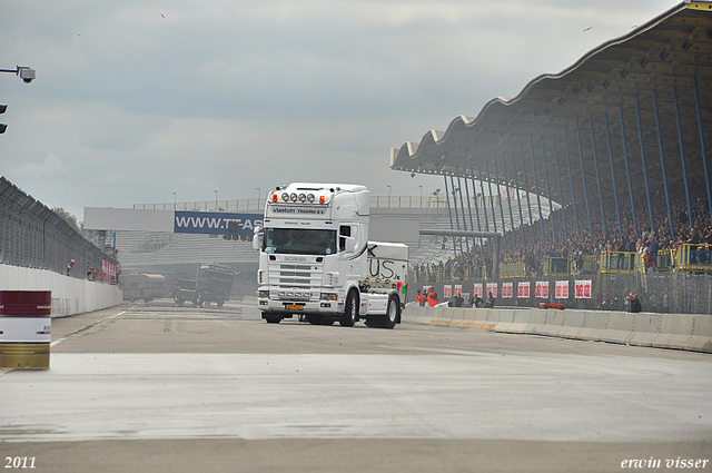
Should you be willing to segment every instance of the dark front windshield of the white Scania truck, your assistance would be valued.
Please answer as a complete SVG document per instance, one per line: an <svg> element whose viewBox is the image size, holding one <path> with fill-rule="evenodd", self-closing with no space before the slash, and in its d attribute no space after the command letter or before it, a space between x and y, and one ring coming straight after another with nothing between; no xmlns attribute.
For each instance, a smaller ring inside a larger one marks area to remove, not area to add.
<svg viewBox="0 0 712 473"><path fill-rule="evenodd" d="M265 228L263 252L290 255L333 255L336 253L336 230Z"/></svg>

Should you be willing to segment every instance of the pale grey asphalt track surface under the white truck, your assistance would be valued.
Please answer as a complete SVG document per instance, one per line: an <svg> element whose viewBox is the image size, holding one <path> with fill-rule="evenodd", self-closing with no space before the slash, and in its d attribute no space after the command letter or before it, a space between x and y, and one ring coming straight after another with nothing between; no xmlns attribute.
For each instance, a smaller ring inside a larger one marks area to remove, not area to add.
<svg viewBox="0 0 712 473"><path fill-rule="evenodd" d="M49 371L1 373L0 454L37 472L712 471L712 356L125 304L52 321Z"/></svg>

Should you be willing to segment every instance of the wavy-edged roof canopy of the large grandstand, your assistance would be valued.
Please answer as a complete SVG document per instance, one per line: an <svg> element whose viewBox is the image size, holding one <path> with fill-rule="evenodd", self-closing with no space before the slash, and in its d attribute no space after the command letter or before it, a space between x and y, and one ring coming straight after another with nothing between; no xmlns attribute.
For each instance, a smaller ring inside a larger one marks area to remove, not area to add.
<svg viewBox="0 0 712 473"><path fill-rule="evenodd" d="M476 117L461 115L445 131L392 149L390 167L492 180L567 205L572 188L583 197L582 181L612 191L612 173L624 189L630 176L633 191L645 186L644 170L652 188L663 176L682 187L681 149L686 175L702 177L711 134L712 3L683 2L562 72L534 78L516 97L494 98Z"/></svg>

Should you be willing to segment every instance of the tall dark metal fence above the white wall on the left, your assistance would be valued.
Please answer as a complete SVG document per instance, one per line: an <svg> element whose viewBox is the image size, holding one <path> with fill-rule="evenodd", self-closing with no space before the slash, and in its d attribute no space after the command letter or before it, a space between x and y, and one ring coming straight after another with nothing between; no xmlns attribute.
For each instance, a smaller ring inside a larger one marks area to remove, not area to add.
<svg viewBox="0 0 712 473"><path fill-rule="evenodd" d="M103 242L102 242L103 243ZM39 200L0 177L0 264L48 269L85 278L103 262L118 265Z"/></svg>

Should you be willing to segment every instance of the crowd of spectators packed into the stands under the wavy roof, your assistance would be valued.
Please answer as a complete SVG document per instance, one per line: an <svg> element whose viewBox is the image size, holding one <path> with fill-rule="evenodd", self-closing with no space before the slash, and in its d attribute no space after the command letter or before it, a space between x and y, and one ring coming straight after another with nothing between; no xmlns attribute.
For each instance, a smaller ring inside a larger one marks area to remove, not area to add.
<svg viewBox="0 0 712 473"><path fill-rule="evenodd" d="M706 201L706 187L701 177L690 179L690 211L683 186L672 186L670 190L670 211L663 189L647 196L643 191L634 197L635 220L627 194L619 193L619 205L613 195L603 198L603 213L597 195L589 193L589 211L585 203L577 201L574 217L574 206L551 213L550 218L535 220L532 225L524 225L507 230L501 245L500 262L523 263L527 274L535 275L542 269L545 257L563 257L577 260L583 256L600 255L602 252L639 252L646 266L654 267L659 253L678 248L683 244L712 245L712 221ZM526 205L524 200L523 205ZM532 208L536 215L537 211ZM620 214L621 226L619 227ZM605 220L603 219L605 215ZM651 228L651 216L653 227ZM672 225L670 224L672 216ZM565 219L565 231L564 231ZM577 221L576 221L577 220ZM605 221L605 226L604 226ZM635 221L636 225L633 224ZM692 221L692 225L690 225ZM483 223L484 224L484 223ZM591 227L590 227L591 226ZM672 227L674 235L670 234ZM443 243L452 248L453 243ZM487 240L456 242L456 256L438 264L423 264L416 270L424 282L434 282L438 272L446 269L453 280L462 280L471 268L486 268L492 274L492 244ZM462 247L462 250L461 250ZM709 253L708 253L709 257ZM712 262L701 262L712 263ZM423 276L421 276L423 275Z"/></svg>

